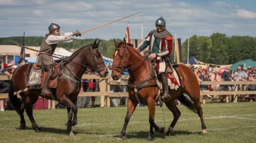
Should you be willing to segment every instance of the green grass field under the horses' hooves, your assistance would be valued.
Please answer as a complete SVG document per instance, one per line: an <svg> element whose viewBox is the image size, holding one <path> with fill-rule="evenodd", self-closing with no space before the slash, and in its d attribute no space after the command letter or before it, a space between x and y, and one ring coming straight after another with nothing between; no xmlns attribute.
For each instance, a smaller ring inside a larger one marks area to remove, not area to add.
<svg viewBox="0 0 256 143"><path fill-rule="evenodd" d="M201 132L198 115L183 105L173 137L155 132L154 142L255 142L256 102L229 104L204 104L203 115L208 133ZM42 133L32 130L27 115L27 129L19 129L16 111L0 112L0 142L147 142L149 133L147 107L137 107L127 127L123 141L117 140L123 126L127 107L79 109L78 124L73 126L74 136L69 136L64 124L66 109L34 110ZM155 122L160 127L170 126L172 113L164 105L156 108Z"/></svg>

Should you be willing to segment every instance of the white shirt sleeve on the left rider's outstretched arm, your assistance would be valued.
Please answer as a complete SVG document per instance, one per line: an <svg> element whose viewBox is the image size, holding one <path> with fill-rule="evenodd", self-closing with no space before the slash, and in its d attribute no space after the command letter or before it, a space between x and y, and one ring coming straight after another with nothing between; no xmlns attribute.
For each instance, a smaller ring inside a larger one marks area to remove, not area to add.
<svg viewBox="0 0 256 143"><path fill-rule="evenodd" d="M62 43L62 42L71 42L73 41L73 32L64 33L63 35L60 35L60 36L49 35L48 38L45 39L45 41L48 45Z"/></svg>

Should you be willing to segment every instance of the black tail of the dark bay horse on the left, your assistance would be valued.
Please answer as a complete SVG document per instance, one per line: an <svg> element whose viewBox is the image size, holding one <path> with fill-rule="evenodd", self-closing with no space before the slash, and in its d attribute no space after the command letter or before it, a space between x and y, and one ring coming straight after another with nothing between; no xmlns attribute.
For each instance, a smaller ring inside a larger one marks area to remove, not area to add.
<svg viewBox="0 0 256 143"><path fill-rule="evenodd" d="M14 110L16 110L16 112L19 114L20 106L21 106L21 101L17 97L17 94L14 95L14 87L13 87L12 79L10 80L10 83L9 83L9 93L8 93L8 96L9 96L10 106Z"/></svg>

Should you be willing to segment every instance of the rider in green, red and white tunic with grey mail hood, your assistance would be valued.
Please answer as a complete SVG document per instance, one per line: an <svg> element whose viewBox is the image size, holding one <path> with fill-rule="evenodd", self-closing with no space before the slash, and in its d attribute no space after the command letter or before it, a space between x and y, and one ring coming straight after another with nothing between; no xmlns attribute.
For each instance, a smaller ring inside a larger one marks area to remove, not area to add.
<svg viewBox="0 0 256 143"><path fill-rule="evenodd" d="M157 72L162 79L162 86L164 87L162 98L165 99L170 97L168 94L169 89L166 74L168 65L171 64L169 56L172 53L173 36L166 30L166 22L162 16L155 21L155 27L157 30L149 32L136 50L141 52L149 45L149 50L151 51L149 57L157 60ZM169 70L172 70L172 68L170 67Z"/></svg>

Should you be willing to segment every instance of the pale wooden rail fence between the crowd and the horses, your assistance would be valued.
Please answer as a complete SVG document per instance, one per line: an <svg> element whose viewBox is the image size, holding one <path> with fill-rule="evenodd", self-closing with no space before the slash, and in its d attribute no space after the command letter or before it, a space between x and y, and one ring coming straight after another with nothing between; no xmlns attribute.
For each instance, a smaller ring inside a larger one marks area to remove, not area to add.
<svg viewBox="0 0 256 143"><path fill-rule="evenodd" d="M12 76L12 75L11 75ZM0 80L10 80L10 77L6 75L0 75ZM128 79L127 76L125 79ZM110 75L105 78L100 78L93 74L84 74L82 79L97 79L99 80L99 92L81 92L79 96L101 96L101 107L110 107L110 97L127 97L128 93L113 93L110 91L110 85L127 85L123 80L121 82L116 82L111 80ZM237 82L199 82L199 85L233 85L233 91L201 91L201 96L203 95L234 95L234 102L237 102L239 95L246 94L256 94L256 91L238 91L238 87L248 84L256 84L256 82L251 81L237 81ZM240 88L241 89L241 88ZM18 95L19 96L19 95ZM0 94L0 98L8 98L7 93ZM55 101L50 101L48 105L49 109L55 109Z"/></svg>

